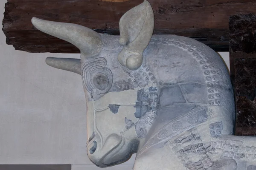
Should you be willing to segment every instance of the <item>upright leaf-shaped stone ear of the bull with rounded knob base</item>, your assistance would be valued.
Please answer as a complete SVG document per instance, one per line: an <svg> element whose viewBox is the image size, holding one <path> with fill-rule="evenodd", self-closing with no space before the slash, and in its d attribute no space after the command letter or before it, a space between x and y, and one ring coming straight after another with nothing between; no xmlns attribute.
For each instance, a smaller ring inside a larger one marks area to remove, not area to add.
<svg viewBox="0 0 256 170"><path fill-rule="evenodd" d="M143 62L143 51L154 31L154 12L148 1L127 11L119 21L120 44L124 47L118 54L121 65L130 70L138 69Z"/></svg>

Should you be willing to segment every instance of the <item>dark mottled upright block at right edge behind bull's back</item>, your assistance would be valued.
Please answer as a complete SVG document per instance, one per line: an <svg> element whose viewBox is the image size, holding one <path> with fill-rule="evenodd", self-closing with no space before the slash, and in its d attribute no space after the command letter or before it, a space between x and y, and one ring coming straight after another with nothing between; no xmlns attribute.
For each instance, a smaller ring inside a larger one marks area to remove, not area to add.
<svg viewBox="0 0 256 170"><path fill-rule="evenodd" d="M230 77L236 99L236 135L256 135L256 16L232 15Z"/></svg>

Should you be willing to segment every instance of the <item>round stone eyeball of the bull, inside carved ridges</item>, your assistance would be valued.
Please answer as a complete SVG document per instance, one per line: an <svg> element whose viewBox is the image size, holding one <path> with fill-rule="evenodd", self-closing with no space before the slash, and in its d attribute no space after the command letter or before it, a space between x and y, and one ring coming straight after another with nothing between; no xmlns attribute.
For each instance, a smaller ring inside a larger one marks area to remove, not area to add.
<svg viewBox="0 0 256 170"><path fill-rule="evenodd" d="M99 90L104 91L108 87L109 79L108 79L108 77L105 74L97 73L93 77L93 84Z"/></svg>

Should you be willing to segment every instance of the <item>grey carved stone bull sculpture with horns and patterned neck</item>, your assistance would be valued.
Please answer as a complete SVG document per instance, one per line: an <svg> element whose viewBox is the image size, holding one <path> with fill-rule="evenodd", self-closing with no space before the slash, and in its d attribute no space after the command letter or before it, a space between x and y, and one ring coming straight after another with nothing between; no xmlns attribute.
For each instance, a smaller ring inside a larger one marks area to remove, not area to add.
<svg viewBox="0 0 256 170"><path fill-rule="evenodd" d="M144 1L120 19L120 36L32 18L73 43L80 59L46 59L81 74L87 100L87 153L99 167L137 153L134 170L256 170L256 138L232 136L233 89L226 66L201 42L153 35Z"/></svg>

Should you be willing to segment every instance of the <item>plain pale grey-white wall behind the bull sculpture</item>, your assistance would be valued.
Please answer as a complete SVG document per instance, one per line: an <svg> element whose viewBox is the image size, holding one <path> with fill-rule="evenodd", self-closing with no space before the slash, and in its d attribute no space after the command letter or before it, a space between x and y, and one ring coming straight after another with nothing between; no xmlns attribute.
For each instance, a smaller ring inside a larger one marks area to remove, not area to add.
<svg viewBox="0 0 256 170"><path fill-rule="evenodd" d="M0 0L0 20L4 3ZM0 31L0 164L73 164L98 170L86 152L86 105L81 77L51 68L46 57L6 45ZM229 66L228 53L221 53ZM128 162L108 170L131 170Z"/></svg>

